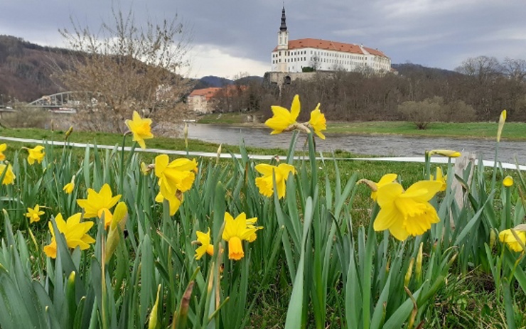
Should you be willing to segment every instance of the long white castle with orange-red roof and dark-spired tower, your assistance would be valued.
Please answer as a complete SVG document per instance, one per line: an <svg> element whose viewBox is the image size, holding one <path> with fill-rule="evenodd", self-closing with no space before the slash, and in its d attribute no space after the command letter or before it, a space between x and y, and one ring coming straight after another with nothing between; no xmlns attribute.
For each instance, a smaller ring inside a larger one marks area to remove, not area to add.
<svg viewBox="0 0 526 329"><path fill-rule="evenodd" d="M373 70L390 72L391 59L380 50L320 39L289 40L285 7L281 11L278 45L272 50L272 72L304 72L304 68L321 71Z"/></svg>

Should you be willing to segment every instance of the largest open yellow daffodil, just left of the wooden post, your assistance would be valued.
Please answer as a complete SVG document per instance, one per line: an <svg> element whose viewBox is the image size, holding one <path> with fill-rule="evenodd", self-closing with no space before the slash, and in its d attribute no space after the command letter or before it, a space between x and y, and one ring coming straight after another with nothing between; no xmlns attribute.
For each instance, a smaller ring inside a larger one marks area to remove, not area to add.
<svg viewBox="0 0 526 329"><path fill-rule="evenodd" d="M375 231L389 230L399 240L409 235L424 234L431 224L439 222L435 208L428 202L439 192L442 184L436 180L422 180L406 191L399 183L389 183L377 191L380 212L375 219Z"/></svg>

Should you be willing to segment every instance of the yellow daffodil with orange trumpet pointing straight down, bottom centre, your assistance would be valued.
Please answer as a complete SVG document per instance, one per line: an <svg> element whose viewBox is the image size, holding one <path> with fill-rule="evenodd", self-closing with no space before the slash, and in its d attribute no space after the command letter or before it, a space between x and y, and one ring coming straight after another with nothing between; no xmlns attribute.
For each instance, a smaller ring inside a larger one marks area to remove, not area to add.
<svg viewBox="0 0 526 329"><path fill-rule="evenodd" d="M238 261L245 257L242 241L248 241L256 230L255 227L247 227L245 212L240 213L235 219L228 212L225 212L225 229L222 232L222 239L228 242L228 259Z"/></svg>

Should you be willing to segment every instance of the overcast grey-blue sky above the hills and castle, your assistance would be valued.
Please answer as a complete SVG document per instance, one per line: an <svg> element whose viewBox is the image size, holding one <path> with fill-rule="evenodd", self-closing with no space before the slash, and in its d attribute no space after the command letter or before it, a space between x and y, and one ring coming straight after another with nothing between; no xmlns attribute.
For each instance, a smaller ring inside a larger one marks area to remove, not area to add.
<svg viewBox="0 0 526 329"><path fill-rule="evenodd" d="M193 36L189 75L262 76L277 44L282 0L121 0L136 21L178 15ZM87 26L111 18L109 0L0 0L0 34L63 46L70 17ZM525 0L286 0L289 39L362 43L392 63L453 70L478 55L526 59Z"/></svg>

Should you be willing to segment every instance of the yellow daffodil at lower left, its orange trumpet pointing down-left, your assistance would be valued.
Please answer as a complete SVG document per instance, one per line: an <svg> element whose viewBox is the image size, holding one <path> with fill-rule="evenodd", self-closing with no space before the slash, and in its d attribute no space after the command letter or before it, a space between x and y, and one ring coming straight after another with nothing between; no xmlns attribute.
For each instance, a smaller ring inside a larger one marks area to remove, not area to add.
<svg viewBox="0 0 526 329"><path fill-rule="evenodd" d="M80 217L80 212L77 212L69 217L67 221L64 221L62 214L58 214L55 217L55 222L57 223L58 232L64 234L68 247L73 249L80 247L80 250L85 250L90 247L90 244L95 242L95 239L87 234L87 231L93 226L93 222L80 222ZM51 232L51 243L44 247L44 252L48 257L56 258L57 241L55 239L55 231L51 222L48 225Z"/></svg>

